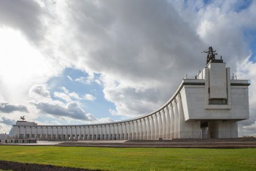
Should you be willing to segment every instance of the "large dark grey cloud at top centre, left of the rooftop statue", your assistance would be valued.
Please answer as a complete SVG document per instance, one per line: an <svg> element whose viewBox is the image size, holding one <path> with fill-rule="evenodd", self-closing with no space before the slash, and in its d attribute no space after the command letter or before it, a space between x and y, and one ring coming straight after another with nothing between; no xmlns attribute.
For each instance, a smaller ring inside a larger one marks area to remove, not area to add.
<svg viewBox="0 0 256 171"><path fill-rule="evenodd" d="M82 48L88 49L87 41L98 45L84 59L94 71L164 81L178 67L184 68L176 73L181 76L204 64L198 56L205 45L167 1L102 1L90 4L93 12L87 5L69 3L72 16L83 14L71 20L77 36L85 32L78 39Z"/></svg>

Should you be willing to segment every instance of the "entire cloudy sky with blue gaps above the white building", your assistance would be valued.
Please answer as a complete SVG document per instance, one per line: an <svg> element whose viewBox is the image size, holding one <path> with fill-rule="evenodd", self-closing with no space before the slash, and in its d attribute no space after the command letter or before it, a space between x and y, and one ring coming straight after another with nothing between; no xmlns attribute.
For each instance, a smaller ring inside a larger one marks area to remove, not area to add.
<svg viewBox="0 0 256 171"><path fill-rule="evenodd" d="M256 1L0 1L0 133L133 118L165 103L212 45L250 79L256 136Z"/></svg>

